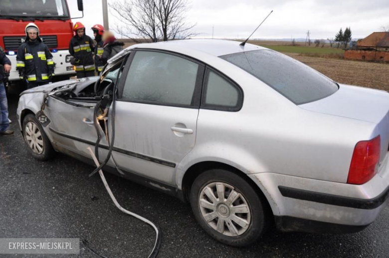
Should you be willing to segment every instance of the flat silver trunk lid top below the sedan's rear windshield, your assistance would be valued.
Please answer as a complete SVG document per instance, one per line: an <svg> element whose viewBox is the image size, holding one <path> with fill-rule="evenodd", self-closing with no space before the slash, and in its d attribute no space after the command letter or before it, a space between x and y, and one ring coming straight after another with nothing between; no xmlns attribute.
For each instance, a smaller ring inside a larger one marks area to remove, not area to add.
<svg viewBox="0 0 389 258"><path fill-rule="evenodd" d="M344 84L339 86L339 90L331 96L299 107L375 124L379 124L388 114L388 92Z"/></svg>

